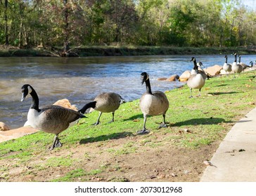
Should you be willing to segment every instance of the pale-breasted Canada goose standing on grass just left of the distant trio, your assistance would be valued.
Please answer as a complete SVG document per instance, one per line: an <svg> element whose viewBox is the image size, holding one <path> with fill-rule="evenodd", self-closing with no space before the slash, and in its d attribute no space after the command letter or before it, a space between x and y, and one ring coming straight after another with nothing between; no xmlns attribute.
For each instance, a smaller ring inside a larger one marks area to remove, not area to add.
<svg viewBox="0 0 256 196"><path fill-rule="evenodd" d="M200 92L201 92L201 88L205 85L205 78L203 77L203 74L199 73L198 71L198 65L196 64L196 58L192 57L190 61L193 61L194 67L193 69L196 71L196 74L192 74L187 81L187 85L190 88L190 92L191 92L191 97L192 96L192 89L199 89L199 94L198 96L200 96Z"/></svg>

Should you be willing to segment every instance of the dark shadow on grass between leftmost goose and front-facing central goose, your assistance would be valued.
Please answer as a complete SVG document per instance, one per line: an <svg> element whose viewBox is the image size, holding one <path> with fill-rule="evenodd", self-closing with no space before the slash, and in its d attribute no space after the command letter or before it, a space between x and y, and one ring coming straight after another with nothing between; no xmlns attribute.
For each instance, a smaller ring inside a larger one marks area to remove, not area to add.
<svg viewBox="0 0 256 196"><path fill-rule="evenodd" d="M86 139L81 139L79 141L79 144L88 144L88 143L93 143L96 141L105 141L108 139L120 139L120 138L125 138L125 137L131 136L131 135L133 135L132 132L122 132L122 133L101 135L98 137L90 137L90 138L86 138Z"/></svg>

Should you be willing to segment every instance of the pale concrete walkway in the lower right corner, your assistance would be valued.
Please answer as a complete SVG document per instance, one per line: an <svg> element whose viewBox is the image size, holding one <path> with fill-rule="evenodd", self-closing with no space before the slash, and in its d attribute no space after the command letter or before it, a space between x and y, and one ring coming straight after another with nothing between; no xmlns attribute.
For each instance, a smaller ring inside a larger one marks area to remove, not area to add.
<svg viewBox="0 0 256 196"><path fill-rule="evenodd" d="M256 182L256 108L219 145L201 182Z"/></svg>

